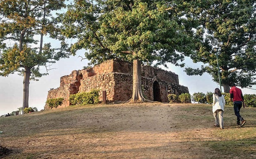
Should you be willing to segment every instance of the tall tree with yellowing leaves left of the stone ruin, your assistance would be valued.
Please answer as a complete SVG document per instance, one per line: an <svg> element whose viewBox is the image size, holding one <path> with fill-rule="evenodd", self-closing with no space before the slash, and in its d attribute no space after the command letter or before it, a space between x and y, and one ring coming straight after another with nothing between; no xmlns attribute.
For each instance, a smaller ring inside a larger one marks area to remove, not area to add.
<svg viewBox="0 0 256 159"><path fill-rule="evenodd" d="M40 66L68 55L63 42L59 49L50 43L43 46L46 35L62 40L59 22L51 17L52 11L62 7L64 0L0 0L0 75L19 72L24 76L23 108L28 107L30 79L45 75L40 73Z"/></svg>

